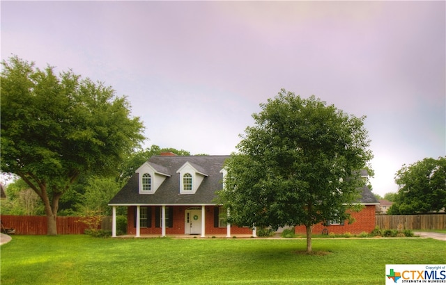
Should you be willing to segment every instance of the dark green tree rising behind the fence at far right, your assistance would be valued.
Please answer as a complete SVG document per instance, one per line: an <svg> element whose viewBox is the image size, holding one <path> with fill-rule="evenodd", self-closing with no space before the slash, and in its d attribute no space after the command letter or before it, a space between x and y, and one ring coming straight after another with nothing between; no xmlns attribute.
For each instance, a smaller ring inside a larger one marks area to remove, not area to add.
<svg viewBox="0 0 446 285"><path fill-rule="evenodd" d="M446 207L446 157L403 165L395 176L399 190L387 213L407 215Z"/></svg>

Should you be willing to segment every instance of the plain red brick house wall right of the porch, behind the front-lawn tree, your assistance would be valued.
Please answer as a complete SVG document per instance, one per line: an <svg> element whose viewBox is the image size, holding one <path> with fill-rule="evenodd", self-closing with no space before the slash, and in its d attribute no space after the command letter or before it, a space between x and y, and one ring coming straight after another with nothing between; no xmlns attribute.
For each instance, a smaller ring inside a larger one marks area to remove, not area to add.
<svg viewBox="0 0 446 285"><path fill-rule="evenodd" d="M370 233L375 228L375 205L367 205L358 213L351 213L355 218L355 222L348 225L348 221L344 222L344 225L330 225L326 227L329 233L334 234L361 234L362 231ZM313 234L321 234L325 226L322 223L313 226ZM295 227L296 234L305 234L305 226Z"/></svg>

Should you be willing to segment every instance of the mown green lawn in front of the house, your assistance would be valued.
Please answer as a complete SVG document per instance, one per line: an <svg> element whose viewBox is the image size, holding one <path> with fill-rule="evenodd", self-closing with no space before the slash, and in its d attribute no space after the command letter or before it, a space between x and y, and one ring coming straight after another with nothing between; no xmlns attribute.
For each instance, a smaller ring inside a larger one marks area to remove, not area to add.
<svg viewBox="0 0 446 285"><path fill-rule="evenodd" d="M6 284L383 284L386 263L446 263L424 238L121 239L13 236L1 245Z"/></svg>

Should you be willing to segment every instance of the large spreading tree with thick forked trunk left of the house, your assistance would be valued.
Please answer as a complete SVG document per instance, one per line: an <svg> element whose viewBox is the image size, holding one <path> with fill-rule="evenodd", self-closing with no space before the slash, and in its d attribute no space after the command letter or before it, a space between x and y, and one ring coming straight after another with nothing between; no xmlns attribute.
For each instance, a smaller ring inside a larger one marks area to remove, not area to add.
<svg viewBox="0 0 446 285"><path fill-rule="evenodd" d="M144 140L144 127L127 99L103 83L40 70L17 56L1 64L1 170L38 194L47 234L55 235L63 193L81 173L116 170Z"/></svg>

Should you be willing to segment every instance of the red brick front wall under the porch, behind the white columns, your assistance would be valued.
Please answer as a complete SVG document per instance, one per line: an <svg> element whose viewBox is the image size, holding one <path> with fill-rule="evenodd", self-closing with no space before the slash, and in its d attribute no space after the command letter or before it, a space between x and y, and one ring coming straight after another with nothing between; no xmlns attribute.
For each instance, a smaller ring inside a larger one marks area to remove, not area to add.
<svg viewBox="0 0 446 285"><path fill-rule="evenodd" d="M185 234L184 221L185 210L187 206L174 206L174 225L173 227L166 228L166 235ZM214 227L214 206L206 206L205 219L206 229L205 235L212 236L213 234L226 234L226 227ZM151 207L152 210L152 227L141 227L140 234L155 234L161 235L161 227L155 227L155 207ZM134 225L134 206L127 208L127 233L136 234L136 228ZM231 234L252 234L252 230L246 227L231 227Z"/></svg>

